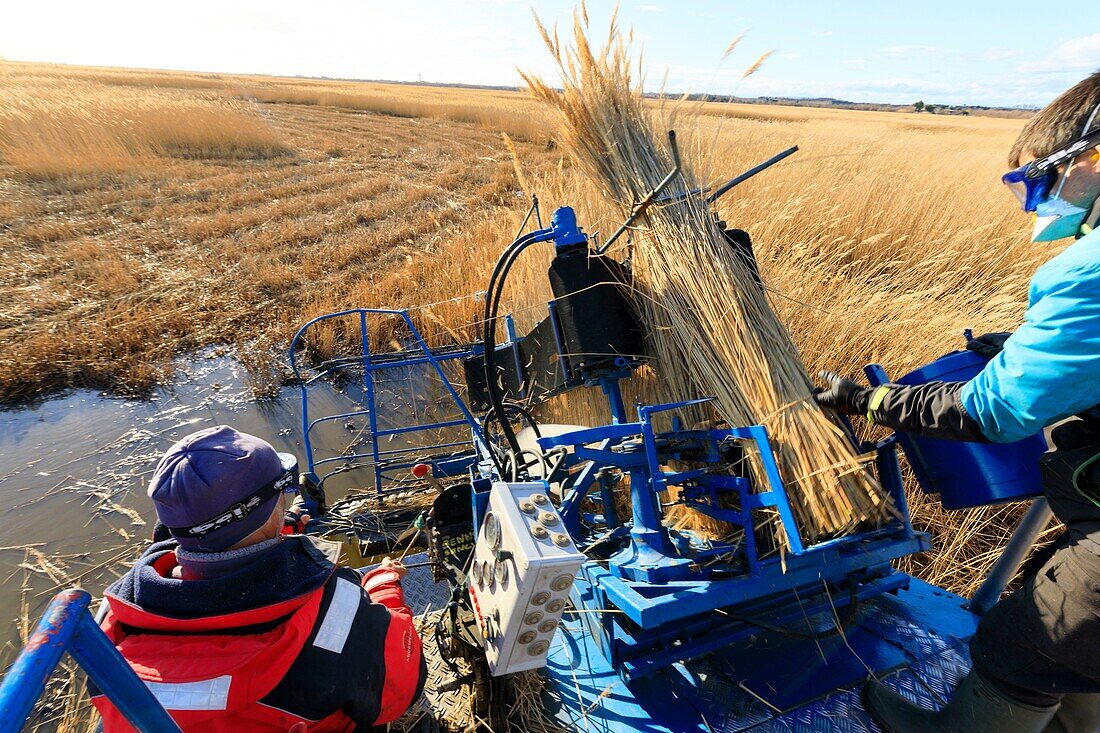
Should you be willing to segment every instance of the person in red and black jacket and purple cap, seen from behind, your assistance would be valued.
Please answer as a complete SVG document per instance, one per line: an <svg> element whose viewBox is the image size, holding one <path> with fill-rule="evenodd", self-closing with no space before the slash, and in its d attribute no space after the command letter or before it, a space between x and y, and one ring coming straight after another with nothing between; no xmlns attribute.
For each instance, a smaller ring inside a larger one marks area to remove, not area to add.
<svg viewBox="0 0 1100 733"><path fill-rule="evenodd" d="M337 565L338 546L286 534L295 466L220 426L172 446L153 474L172 538L107 589L102 625L185 732L367 731L424 689L405 568L386 558L360 575ZM133 730L91 693L105 733Z"/></svg>

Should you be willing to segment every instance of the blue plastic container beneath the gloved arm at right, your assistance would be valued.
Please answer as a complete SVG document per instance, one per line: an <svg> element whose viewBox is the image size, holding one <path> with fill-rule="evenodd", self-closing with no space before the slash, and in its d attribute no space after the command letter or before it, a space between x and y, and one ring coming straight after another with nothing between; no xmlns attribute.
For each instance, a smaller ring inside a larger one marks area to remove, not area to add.
<svg viewBox="0 0 1100 733"><path fill-rule="evenodd" d="M895 384L966 382L987 363L972 351L955 351L895 380ZM872 385L886 381L881 368L867 369ZM971 508L1032 499L1043 494L1038 459L1046 452L1043 433L1005 444L936 440L899 433L898 442L909 458L925 493L938 493L944 508Z"/></svg>

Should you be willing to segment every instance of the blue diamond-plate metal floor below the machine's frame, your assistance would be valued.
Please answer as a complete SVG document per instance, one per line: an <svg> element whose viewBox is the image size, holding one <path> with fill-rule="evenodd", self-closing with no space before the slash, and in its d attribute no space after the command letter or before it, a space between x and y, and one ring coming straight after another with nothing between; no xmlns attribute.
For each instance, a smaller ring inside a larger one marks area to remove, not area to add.
<svg viewBox="0 0 1100 733"><path fill-rule="evenodd" d="M763 633L747 648L630 686L607 668L583 624L566 624L546 670L559 688L548 710L565 730L593 733L879 733L859 697L871 674L937 709L969 670L977 617L961 604L914 580L865 604L844 636L795 643Z"/></svg>

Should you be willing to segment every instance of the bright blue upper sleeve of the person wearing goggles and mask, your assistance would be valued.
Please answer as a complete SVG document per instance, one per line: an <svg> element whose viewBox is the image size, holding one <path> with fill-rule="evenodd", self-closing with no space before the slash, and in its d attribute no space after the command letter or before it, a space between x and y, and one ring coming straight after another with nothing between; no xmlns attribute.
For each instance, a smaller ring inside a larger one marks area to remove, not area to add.
<svg viewBox="0 0 1100 733"><path fill-rule="evenodd" d="M1100 403L1100 277L1074 270L1036 294L1004 350L963 387L963 407L994 442Z"/></svg>

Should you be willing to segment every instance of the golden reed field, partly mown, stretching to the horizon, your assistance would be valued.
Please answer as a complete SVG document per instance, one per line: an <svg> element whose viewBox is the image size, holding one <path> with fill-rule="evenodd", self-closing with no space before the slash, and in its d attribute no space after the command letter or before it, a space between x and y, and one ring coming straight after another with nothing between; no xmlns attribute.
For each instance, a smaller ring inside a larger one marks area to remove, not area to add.
<svg viewBox="0 0 1100 733"><path fill-rule="evenodd" d="M273 354L311 316L483 289L530 192L547 216L576 207L588 231L618 223L524 92L12 63L0 86L6 405L66 386L141 393L211 343L237 347L270 392ZM999 182L1020 120L653 105L712 179L802 149L721 208L752 233L812 371L901 374L964 328L1011 330L1054 254ZM510 281L520 315L549 296L543 266L532 256ZM446 340L474 306L418 317ZM917 571L963 593L1020 511L912 502L937 547Z"/></svg>

